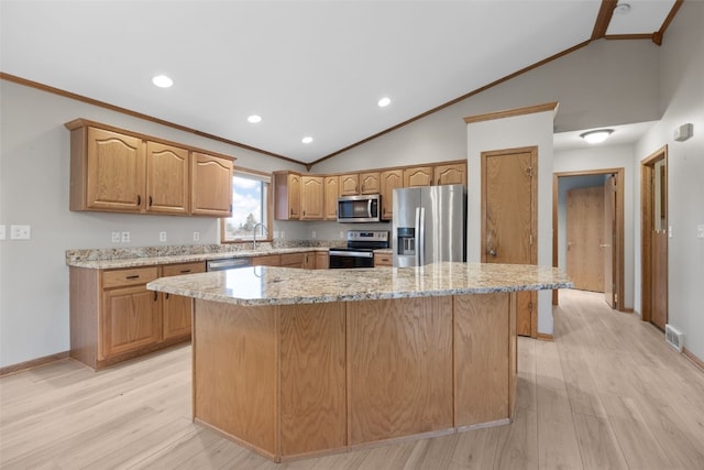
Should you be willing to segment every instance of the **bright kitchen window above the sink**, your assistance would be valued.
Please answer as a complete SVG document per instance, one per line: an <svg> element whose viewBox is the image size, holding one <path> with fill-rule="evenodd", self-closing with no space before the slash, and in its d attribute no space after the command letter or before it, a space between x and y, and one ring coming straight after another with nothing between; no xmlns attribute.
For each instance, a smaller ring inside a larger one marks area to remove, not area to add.
<svg viewBox="0 0 704 470"><path fill-rule="evenodd" d="M234 170L232 177L232 217L221 220L222 242L252 241L257 223L270 227L270 186L268 175ZM271 240L267 230L257 227L257 240Z"/></svg>

